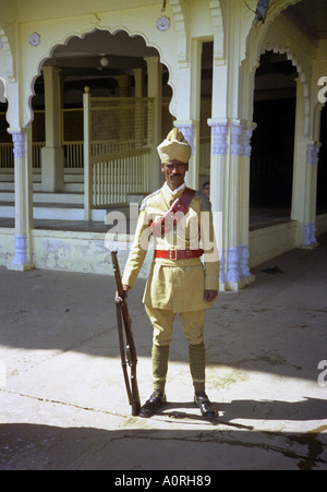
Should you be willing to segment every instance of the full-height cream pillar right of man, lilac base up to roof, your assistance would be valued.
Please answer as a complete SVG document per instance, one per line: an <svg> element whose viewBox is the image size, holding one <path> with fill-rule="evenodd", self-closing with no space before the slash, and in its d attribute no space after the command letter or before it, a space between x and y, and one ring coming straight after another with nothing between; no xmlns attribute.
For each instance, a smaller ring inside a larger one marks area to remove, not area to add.
<svg viewBox="0 0 327 492"><path fill-rule="evenodd" d="M239 1L226 2L225 14L226 52L214 57L213 107L208 120L210 201L214 217L220 214L220 224L215 228L220 253L219 288L239 290L254 280L249 267L249 221L251 137L255 123L249 120L249 92L244 92L245 75L241 69L245 38ZM214 52L216 46L222 46L220 32L215 33Z"/></svg>

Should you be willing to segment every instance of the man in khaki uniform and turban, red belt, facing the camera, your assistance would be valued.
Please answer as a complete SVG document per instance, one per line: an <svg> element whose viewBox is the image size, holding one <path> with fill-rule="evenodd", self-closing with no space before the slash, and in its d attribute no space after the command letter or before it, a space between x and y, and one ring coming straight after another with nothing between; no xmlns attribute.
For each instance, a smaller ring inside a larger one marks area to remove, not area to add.
<svg viewBox="0 0 327 492"><path fill-rule="evenodd" d="M205 345L203 337L207 308L218 292L219 262L208 199L186 188L191 146L174 128L158 146L166 183L142 203L134 242L122 277L125 296L144 262L149 236L155 254L143 302L154 327L154 393L141 408L152 417L166 401L166 375L172 325L180 313L189 343L194 401L206 419L217 416L205 392ZM201 256L204 254L204 263Z"/></svg>

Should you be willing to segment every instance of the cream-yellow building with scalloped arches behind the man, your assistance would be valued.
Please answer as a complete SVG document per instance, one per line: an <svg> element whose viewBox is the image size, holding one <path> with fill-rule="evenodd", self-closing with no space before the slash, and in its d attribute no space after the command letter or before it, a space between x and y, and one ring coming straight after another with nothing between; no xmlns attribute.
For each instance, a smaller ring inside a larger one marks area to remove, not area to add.
<svg viewBox="0 0 327 492"><path fill-rule="evenodd" d="M172 122L189 185L210 181L222 290L326 232L326 1L0 7L0 265L110 273Z"/></svg>

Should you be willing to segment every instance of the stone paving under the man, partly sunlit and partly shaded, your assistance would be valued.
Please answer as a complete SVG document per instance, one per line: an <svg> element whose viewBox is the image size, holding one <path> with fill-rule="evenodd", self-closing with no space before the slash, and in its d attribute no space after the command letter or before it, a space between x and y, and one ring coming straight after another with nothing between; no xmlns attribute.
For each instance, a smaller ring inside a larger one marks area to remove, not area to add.
<svg viewBox="0 0 327 492"><path fill-rule="evenodd" d="M219 411L208 422L192 403L179 320L169 401L152 419L132 417L113 277L0 268L0 469L326 470L327 237L253 273L207 313L207 393ZM142 401L152 392L144 284L129 298Z"/></svg>

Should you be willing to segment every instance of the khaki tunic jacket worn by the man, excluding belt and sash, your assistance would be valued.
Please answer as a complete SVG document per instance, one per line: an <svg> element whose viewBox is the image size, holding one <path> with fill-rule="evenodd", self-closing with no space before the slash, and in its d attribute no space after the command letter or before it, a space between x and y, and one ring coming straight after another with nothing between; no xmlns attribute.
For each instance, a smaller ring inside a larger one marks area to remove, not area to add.
<svg viewBox="0 0 327 492"><path fill-rule="evenodd" d="M195 192L189 212L173 230L162 238L152 237L149 223L162 217L175 195L165 184L160 190L144 199L135 230L133 245L124 268L122 283L133 287L147 253L149 239L154 249L204 249L203 261L154 259L146 283L143 302L152 308L173 312L207 309L211 303L204 301L204 291L218 290L219 261L214 240L210 202L203 193Z"/></svg>

